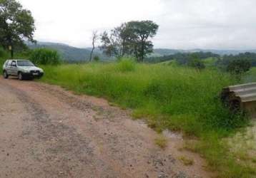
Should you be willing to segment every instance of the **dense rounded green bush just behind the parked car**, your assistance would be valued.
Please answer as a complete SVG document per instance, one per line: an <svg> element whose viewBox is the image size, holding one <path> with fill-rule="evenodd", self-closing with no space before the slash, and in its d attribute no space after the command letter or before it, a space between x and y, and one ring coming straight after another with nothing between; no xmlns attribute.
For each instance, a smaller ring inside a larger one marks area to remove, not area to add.
<svg viewBox="0 0 256 178"><path fill-rule="evenodd" d="M39 48L31 52L30 58L33 63L43 65L58 65L61 63L59 53L48 48Z"/></svg>

